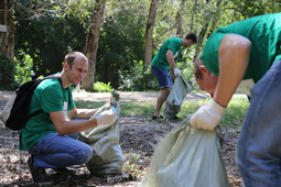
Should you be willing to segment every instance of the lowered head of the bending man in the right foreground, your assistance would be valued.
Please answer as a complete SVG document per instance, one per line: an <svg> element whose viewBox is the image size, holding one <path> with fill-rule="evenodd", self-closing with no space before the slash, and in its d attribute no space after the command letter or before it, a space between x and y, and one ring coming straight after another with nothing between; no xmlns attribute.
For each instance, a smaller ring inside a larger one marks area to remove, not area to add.
<svg viewBox="0 0 281 187"><path fill-rule="evenodd" d="M195 79L203 91L207 91L212 97L214 97L218 77L207 70L203 61L199 59L199 56L201 55L197 56L194 63Z"/></svg>

